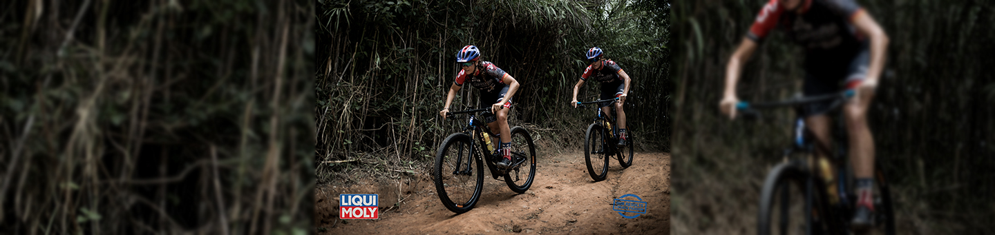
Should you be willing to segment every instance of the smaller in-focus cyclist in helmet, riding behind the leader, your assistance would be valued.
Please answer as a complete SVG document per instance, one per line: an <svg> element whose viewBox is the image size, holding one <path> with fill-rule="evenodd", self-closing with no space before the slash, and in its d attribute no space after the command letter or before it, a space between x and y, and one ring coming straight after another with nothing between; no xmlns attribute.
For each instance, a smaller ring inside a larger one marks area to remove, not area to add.
<svg viewBox="0 0 995 235"><path fill-rule="evenodd" d="M580 75L580 80L577 84L573 86L573 100L570 104L574 108L577 107L577 90L580 89L581 85L584 85L584 81L588 78L592 78L595 81L601 81L601 98L600 99L611 99L619 98L619 102L615 103L615 112L618 115L618 126L619 126L619 147L625 146L626 130L625 130L625 110L622 109L622 104L625 104L625 97L629 94L629 83L632 81L629 78L629 74L622 70L622 67L618 63L612 61L612 59L604 59L604 52L601 49L595 47L587 50L587 61L590 62L587 68L584 69L584 74ZM601 111L605 114L611 113L611 109L608 105L609 102L602 103Z"/></svg>

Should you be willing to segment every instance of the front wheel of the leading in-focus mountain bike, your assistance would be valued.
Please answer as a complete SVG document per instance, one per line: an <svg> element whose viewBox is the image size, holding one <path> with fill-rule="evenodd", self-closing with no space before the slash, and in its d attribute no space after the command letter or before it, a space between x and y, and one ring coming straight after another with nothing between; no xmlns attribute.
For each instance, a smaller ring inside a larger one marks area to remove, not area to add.
<svg viewBox="0 0 995 235"><path fill-rule="evenodd" d="M439 199L449 210L456 213L470 211L481 198L484 188L484 165L475 160L471 148L472 138L464 133L455 133L443 141L436 155L432 179L436 184ZM471 168L467 169L467 161ZM477 169L474 169L476 165Z"/></svg>

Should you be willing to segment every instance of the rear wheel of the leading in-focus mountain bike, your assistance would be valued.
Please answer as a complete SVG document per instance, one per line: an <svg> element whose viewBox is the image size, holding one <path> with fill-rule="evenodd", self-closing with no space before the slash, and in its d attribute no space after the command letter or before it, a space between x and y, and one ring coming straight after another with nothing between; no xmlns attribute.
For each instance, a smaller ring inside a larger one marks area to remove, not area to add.
<svg viewBox="0 0 995 235"><path fill-rule="evenodd" d="M521 164L515 164L517 167L504 174L504 182L512 191L524 193L535 178L535 144L523 127L511 128L511 161Z"/></svg>

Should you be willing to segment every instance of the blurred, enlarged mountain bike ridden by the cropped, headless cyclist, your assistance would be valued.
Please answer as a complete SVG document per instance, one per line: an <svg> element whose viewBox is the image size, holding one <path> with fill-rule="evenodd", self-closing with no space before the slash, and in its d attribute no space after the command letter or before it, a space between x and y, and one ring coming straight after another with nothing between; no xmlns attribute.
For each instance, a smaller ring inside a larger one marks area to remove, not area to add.
<svg viewBox="0 0 995 235"><path fill-rule="evenodd" d="M850 218L857 203L853 168L847 163L847 135L840 107L854 95L854 90L839 93L797 97L784 101L736 104L744 118L758 119L756 109L801 107L814 102L830 101L835 115L833 139L836 153L828 158L815 156L815 138L805 128L805 119L794 119L794 138L784 150L785 162L767 174L760 191L758 234L851 234ZM834 171L835 170L835 171ZM881 164L875 164L873 230L895 234L895 212L891 188ZM792 187L794 185L794 187Z"/></svg>

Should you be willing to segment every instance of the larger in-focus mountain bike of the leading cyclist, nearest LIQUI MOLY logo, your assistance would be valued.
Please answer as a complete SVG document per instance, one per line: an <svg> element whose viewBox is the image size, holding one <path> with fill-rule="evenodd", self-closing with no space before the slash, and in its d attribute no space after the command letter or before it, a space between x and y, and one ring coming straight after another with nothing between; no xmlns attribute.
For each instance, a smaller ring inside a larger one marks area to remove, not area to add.
<svg viewBox="0 0 995 235"><path fill-rule="evenodd" d="M495 118L490 110L490 108L471 109L446 115L448 119L451 116L469 114L467 126L462 131L446 137L439 146L435 168L432 171L439 199L453 212L470 211L480 200L484 187L485 163L491 170L491 176L495 179L502 176L507 187L517 193L528 190L532 185L532 179L535 178L535 144L523 127L512 127L509 132L511 165L507 168L497 167L497 162L502 157L497 154L495 147L500 140L484 122ZM481 115L475 115L477 113ZM482 117L485 119L482 120ZM475 139L476 143L473 141Z"/></svg>

